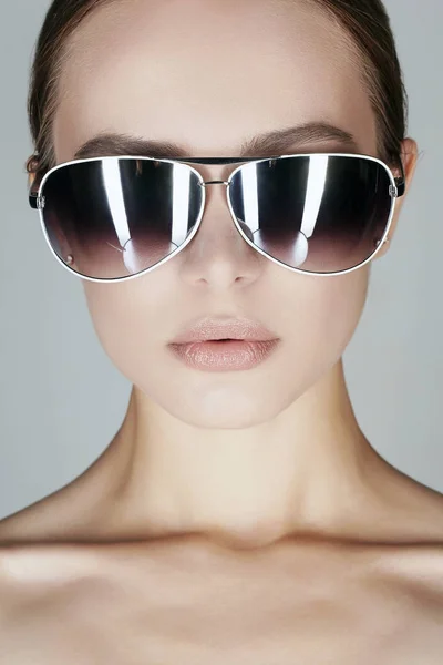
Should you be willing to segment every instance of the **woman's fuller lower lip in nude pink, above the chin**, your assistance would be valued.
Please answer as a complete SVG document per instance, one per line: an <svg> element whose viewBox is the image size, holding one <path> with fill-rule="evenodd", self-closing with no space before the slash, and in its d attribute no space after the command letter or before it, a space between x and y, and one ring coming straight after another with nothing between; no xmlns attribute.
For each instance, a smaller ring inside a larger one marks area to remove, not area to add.
<svg viewBox="0 0 443 665"><path fill-rule="evenodd" d="M171 349L188 367L204 371L251 369L270 356L279 339L270 341L199 341L172 344Z"/></svg>

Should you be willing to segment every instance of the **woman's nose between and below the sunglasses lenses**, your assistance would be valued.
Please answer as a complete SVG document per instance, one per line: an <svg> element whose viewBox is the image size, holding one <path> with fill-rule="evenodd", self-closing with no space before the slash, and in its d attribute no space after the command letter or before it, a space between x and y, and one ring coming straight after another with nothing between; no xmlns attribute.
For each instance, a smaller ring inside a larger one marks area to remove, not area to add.
<svg viewBox="0 0 443 665"><path fill-rule="evenodd" d="M266 259L248 245L235 225L228 205L229 181L210 180L200 185L205 187L205 208L197 233L182 253L182 278L219 290L251 284Z"/></svg>

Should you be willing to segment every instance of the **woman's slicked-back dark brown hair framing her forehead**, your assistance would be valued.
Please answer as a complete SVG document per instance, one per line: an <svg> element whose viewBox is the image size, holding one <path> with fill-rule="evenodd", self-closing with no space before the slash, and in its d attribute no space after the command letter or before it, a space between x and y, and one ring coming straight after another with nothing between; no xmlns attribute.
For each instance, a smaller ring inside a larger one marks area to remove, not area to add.
<svg viewBox="0 0 443 665"><path fill-rule="evenodd" d="M43 174L55 164L52 124L58 82L66 41L97 7L115 0L54 0L40 32L31 73L29 121L35 155L28 171ZM288 1L288 0L287 0ZM405 137L408 95L403 83L390 19L381 0L309 0L344 28L360 55L362 76L375 114L378 154L401 166L401 141Z"/></svg>

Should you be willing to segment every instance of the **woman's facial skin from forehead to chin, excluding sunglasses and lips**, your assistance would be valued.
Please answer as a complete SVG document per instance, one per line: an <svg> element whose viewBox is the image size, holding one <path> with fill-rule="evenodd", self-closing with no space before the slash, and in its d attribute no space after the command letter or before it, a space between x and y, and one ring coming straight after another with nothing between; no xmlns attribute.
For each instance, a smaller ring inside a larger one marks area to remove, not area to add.
<svg viewBox="0 0 443 665"><path fill-rule="evenodd" d="M358 152L377 156L374 115L344 39L316 6L296 0L105 3L71 43L56 160L104 132L178 143L195 157L236 156L254 135L311 121L353 134ZM277 152L327 151L350 152L337 140ZM196 167L205 180L226 168ZM132 383L189 424L239 428L280 413L340 359L368 277L368 266L316 277L268 260L236 231L225 187L213 185L181 254L136 279L83 285L99 338ZM248 371L189 369L167 345L203 316L258 319L280 345Z"/></svg>

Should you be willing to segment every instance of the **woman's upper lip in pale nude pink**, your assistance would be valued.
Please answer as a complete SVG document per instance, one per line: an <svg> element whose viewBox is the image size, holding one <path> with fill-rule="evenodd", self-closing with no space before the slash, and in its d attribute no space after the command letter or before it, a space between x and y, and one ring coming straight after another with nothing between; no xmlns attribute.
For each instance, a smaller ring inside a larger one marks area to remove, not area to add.
<svg viewBox="0 0 443 665"><path fill-rule="evenodd" d="M246 318L199 319L194 326L178 335L171 344L188 344L213 339L248 339L250 341L270 341L278 339L258 321Z"/></svg>

